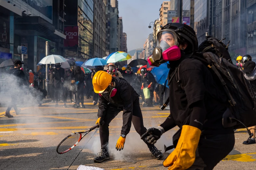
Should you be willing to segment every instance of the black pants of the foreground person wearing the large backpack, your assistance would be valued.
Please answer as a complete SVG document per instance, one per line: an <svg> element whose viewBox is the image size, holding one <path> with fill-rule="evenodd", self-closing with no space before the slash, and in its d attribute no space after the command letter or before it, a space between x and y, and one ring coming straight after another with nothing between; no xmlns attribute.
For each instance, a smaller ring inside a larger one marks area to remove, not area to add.
<svg viewBox="0 0 256 170"><path fill-rule="evenodd" d="M187 170L212 170L232 151L234 145L234 133L202 135L196 150L196 160Z"/></svg>

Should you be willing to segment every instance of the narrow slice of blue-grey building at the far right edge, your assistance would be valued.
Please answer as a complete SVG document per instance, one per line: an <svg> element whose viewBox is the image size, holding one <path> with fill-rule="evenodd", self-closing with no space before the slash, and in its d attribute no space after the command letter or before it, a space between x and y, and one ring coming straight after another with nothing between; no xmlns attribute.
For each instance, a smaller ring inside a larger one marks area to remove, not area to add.
<svg viewBox="0 0 256 170"><path fill-rule="evenodd" d="M247 54L256 59L256 0L247 1Z"/></svg>

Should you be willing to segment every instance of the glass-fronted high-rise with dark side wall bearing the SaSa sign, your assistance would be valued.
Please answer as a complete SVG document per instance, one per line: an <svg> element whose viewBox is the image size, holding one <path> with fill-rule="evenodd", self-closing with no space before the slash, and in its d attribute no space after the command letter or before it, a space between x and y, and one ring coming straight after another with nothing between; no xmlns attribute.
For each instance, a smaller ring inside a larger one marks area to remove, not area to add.
<svg viewBox="0 0 256 170"><path fill-rule="evenodd" d="M67 38L64 57L78 61L93 58L94 1L65 0L65 31Z"/></svg>

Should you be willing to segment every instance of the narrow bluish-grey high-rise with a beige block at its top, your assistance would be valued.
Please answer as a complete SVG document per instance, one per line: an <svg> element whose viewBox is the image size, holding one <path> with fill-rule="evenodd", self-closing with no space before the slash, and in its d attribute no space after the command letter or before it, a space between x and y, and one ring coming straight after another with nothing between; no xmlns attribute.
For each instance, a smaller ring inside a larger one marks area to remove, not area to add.
<svg viewBox="0 0 256 170"><path fill-rule="evenodd" d="M113 6L112 6L113 5ZM110 7L110 51L109 53L119 51L120 44L118 44L118 2L117 0L111 0Z"/></svg>

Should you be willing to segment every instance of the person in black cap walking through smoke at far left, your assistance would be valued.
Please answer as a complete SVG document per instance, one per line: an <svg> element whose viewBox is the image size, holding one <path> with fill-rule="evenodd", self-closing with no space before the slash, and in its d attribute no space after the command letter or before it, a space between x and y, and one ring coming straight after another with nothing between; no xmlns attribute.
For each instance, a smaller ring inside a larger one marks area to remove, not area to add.
<svg viewBox="0 0 256 170"><path fill-rule="evenodd" d="M29 85L28 80L25 78L25 74L20 68L22 67L22 64L24 62L21 62L20 60L15 60L14 62L14 68L8 70L7 74L10 79L9 81L9 88L10 88L10 95L11 95L11 103L9 104L8 108L6 109L5 116L8 118L13 118L13 116L10 114L10 110L13 107L15 110L16 115L19 114L20 109L17 108L17 94L19 93L17 90L23 90L23 85ZM18 88L17 88L18 87Z"/></svg>

